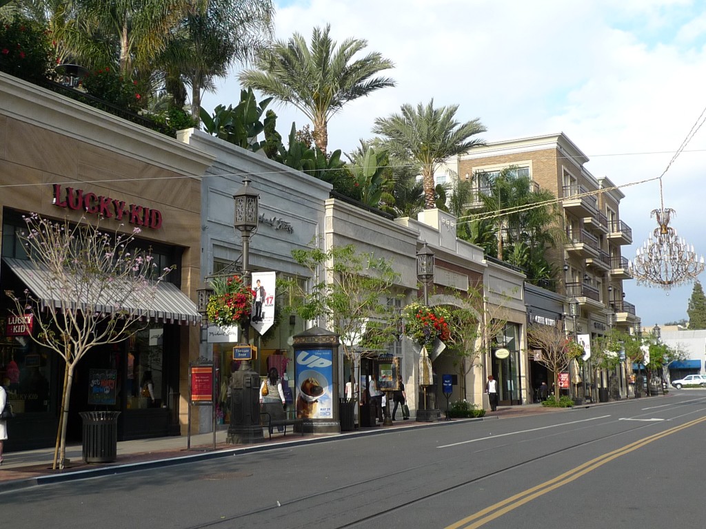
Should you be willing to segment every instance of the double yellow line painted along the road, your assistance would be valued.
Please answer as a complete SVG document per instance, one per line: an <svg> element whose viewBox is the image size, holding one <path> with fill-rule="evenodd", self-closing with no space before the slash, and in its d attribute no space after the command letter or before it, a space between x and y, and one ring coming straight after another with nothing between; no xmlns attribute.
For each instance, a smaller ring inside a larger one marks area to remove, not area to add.
<svg viewBox="0 0 706 529"><path fill-rule="evenodd" d="M583 463L582 465L576 468L572 468L568 472L556 476L556 478L553 478L549 481L545 481L544 483L541 483L540 485L520 492L519 494L515 494L514 496L509 497L508 499L503 499L503 501L498 501L498 503L486 507L486 509L478 511L477 513L472 514L467 518L463 518L462 520L457 521L453 525L448 525L448 527L446 527L445 529L479 528L481 527L481 525L485 525L489 521L495 520L496 518L503 516L503 514L513 511L514 509L517 509L517 507L529 503L533 499L539 498L540 496L543 496L547 492L551 492L552 490L558 489L559 487L562 487L563 485L566 485L567 483L570 483L573 480L577 480L582 475L590 473L592 470L596 470L600 466L603 466L606 463L613 461L615 458L624 456L625 454L629 454L631 451L637 450L638 448L642 448L642 446L645 446L646 444L650 444L651 442L657 441L658 439L662 439L662 437L666 437L668 435L675 434L676 432L680 432L681 430L685 430L686 428L698 425L700 422L704 422L705 420L706 417L702 417L700 419L686 422L681 426L675 426L674 428L670 428L669 430L664 430L664 432L659 432L657 434L650 435L650 437L645 437L645 439L640 439L639 441L627 444L626 446L623 446L612 452L603 454L602 456L598 456L597 458L592 459L591 461L587 461L586 463Z"/></svg>

